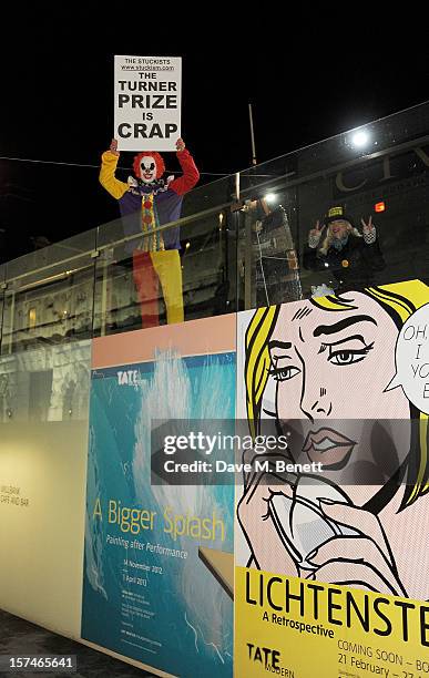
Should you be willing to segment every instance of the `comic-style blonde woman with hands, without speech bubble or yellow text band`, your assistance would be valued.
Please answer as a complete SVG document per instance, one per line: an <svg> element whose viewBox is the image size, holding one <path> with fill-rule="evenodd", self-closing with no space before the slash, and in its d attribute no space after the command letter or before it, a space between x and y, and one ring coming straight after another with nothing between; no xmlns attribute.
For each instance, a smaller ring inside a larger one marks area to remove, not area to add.
<svg viewBox="0 0 429 678"><path fill-rule="evenodd" d="M326 472L316 483L272 469L245 477L237 518L247 566L428 599L428 419L400 388L386 390L398 328L428 294L413 280L255 312L246 332L251 431L276 419L292 433L293 460L320 461ZM313 534L320 517L335 535ZM307 553L309 533L317 540Z"/></svg>

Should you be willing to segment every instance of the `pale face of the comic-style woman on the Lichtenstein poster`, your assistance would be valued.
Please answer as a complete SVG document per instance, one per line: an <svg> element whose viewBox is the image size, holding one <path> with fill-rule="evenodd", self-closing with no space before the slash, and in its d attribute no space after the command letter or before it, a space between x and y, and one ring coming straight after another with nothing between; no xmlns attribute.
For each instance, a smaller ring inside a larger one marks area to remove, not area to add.
<svg viewBox="0 0 429 678"><path fill-rule="evenodd" d="M409 402L401 389L386 391L398 329L371 297L347 298L335 312L310 301L280 307L268 342L275 411L264 400L263 409L290 434L296 462L320 462L338 484L376 486L409 451Z"/></svg>

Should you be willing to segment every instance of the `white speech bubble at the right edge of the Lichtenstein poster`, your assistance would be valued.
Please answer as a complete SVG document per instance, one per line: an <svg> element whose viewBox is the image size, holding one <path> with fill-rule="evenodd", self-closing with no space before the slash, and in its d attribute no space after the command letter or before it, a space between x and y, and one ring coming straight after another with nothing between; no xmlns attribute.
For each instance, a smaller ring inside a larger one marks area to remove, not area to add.
<svg viewBox="0 0 429 678"><path fill-rule="evenodd" d="M408 318L396 342L396 374L385 391L401 387L408 400L429 414L429 304Z"/></svg>

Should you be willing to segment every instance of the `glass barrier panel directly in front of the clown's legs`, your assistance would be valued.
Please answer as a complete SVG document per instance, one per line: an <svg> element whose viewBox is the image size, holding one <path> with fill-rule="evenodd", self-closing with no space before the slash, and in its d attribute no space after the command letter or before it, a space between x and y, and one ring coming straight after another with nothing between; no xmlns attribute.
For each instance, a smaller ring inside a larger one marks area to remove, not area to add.
<svg viewBox="0 0 429 678"><path fill-rule="evenodd" d="M235 237L227 208L205 209L156 232L166 239L165 234L180 228L181 249L151 250L153 234L115 243L112 236L122 223L108 226L100 235L95 267L94 336L235 308Z"/></svg>

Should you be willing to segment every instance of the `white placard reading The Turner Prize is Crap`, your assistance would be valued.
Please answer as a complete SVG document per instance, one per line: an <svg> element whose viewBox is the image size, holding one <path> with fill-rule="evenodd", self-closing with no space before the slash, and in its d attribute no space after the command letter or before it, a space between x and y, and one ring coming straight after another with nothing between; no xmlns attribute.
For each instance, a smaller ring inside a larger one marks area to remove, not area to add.
<svg viewBox="0 0 429 678"><path fill-rule="evenodd" d="M113 136L119 151L175 151L181 94L181 56L115 56Z"/></svg>

